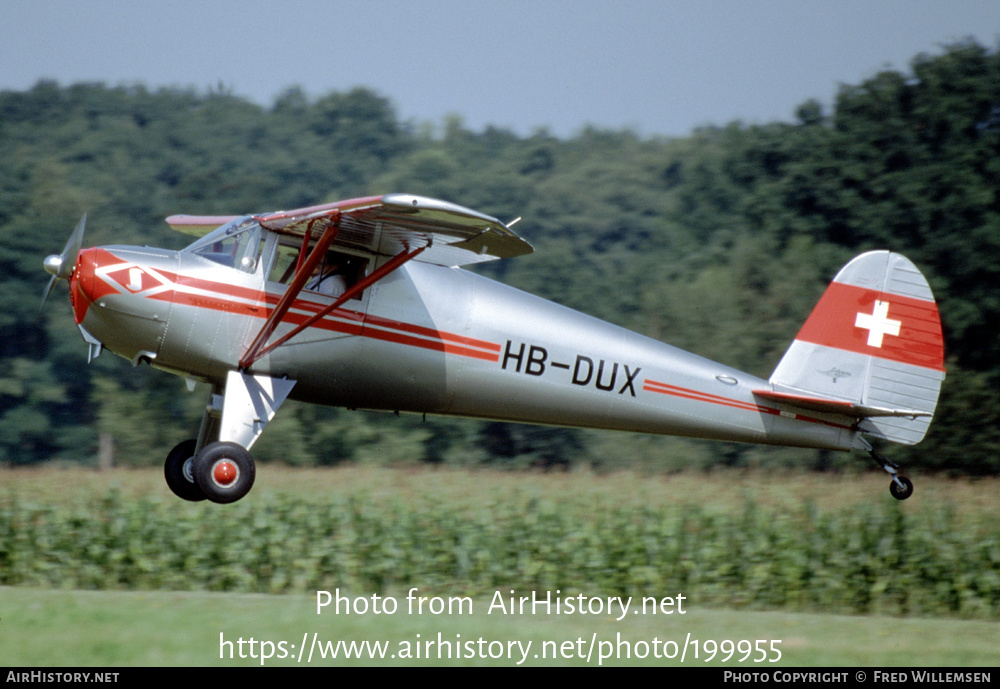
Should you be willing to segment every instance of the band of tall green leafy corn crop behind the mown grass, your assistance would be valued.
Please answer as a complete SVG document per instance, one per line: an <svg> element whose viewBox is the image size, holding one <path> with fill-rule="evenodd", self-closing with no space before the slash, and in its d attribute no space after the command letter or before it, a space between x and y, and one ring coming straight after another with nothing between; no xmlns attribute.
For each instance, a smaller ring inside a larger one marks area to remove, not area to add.
<svg viewBox="0 0 1000 689"><path fill-rule="evenodd" d="M0 499L0 585L489 595L684 593L699 606L1000 616L1000 524L947 506L477 505L265 495L220 508Z"/></svg>

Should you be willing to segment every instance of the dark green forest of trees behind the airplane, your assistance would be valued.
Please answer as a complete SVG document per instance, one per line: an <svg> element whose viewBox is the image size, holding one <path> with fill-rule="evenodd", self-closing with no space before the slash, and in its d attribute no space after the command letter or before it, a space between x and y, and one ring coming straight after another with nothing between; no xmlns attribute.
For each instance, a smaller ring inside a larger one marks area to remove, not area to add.
<svg viewBox="0 0 1000 689"><path fill-rule="evenodd" d="M263 107L225 90L42 81L0 92L0 464L163 462L207 387L110 354L87 365L42 259L85 245L180 248L164 218L408 192L502 220L536 252L475 270L767 377L837 270L888 248L928 277L947 379L904 467L1000 473L1000 53L967 41L801 104L795 121L686 137L530 136L401 121L368 89ZM679 471L867 468L853 455L426 420L289 403L254 446L291 465L439 463ZM874 468L874 465L871 465Z"/></svg>

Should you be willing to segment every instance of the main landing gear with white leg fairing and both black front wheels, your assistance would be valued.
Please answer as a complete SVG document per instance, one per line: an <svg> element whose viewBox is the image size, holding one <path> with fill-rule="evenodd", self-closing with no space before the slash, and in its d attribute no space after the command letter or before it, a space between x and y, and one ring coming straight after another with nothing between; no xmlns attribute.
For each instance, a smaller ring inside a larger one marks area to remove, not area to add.
<svg viewBox="0 0 1000 689"><path fill-rule="evenodd" d="M253 488L257 471L247 449L260 436L295 381L230 371L214 386L197 439L170 451L163 476L174 495L196 502L236 502Z"/></svg>

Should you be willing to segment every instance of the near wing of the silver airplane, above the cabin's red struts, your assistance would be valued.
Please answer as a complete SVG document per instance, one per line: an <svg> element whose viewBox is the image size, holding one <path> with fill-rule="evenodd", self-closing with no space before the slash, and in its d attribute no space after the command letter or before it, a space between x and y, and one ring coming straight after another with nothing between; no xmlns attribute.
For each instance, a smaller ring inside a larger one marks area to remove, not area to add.
<svg viewBox="0 0 1000 689"><path fill-rule="evenodd" d="M339 217L338 217L339 216ZM491 216L412 194L386 194L258 216L279 234L317 237L338 223L334 246L397 256L420 247L415 260L460 266L531 253L532 246Z"/></svg>

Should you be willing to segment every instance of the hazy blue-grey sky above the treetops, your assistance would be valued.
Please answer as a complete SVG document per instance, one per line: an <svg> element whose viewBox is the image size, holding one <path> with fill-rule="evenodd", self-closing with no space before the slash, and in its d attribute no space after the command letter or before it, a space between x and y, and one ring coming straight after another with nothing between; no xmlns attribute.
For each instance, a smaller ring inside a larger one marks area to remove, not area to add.
<svg viewBox="0 0 1000 689"><path fill-rule="evenodd" d="M40 79L226 89L264 106L356 86L403 121L642 136L791 122L842 84L967 38L996 0L0 0L0 90Z"/></svg>

